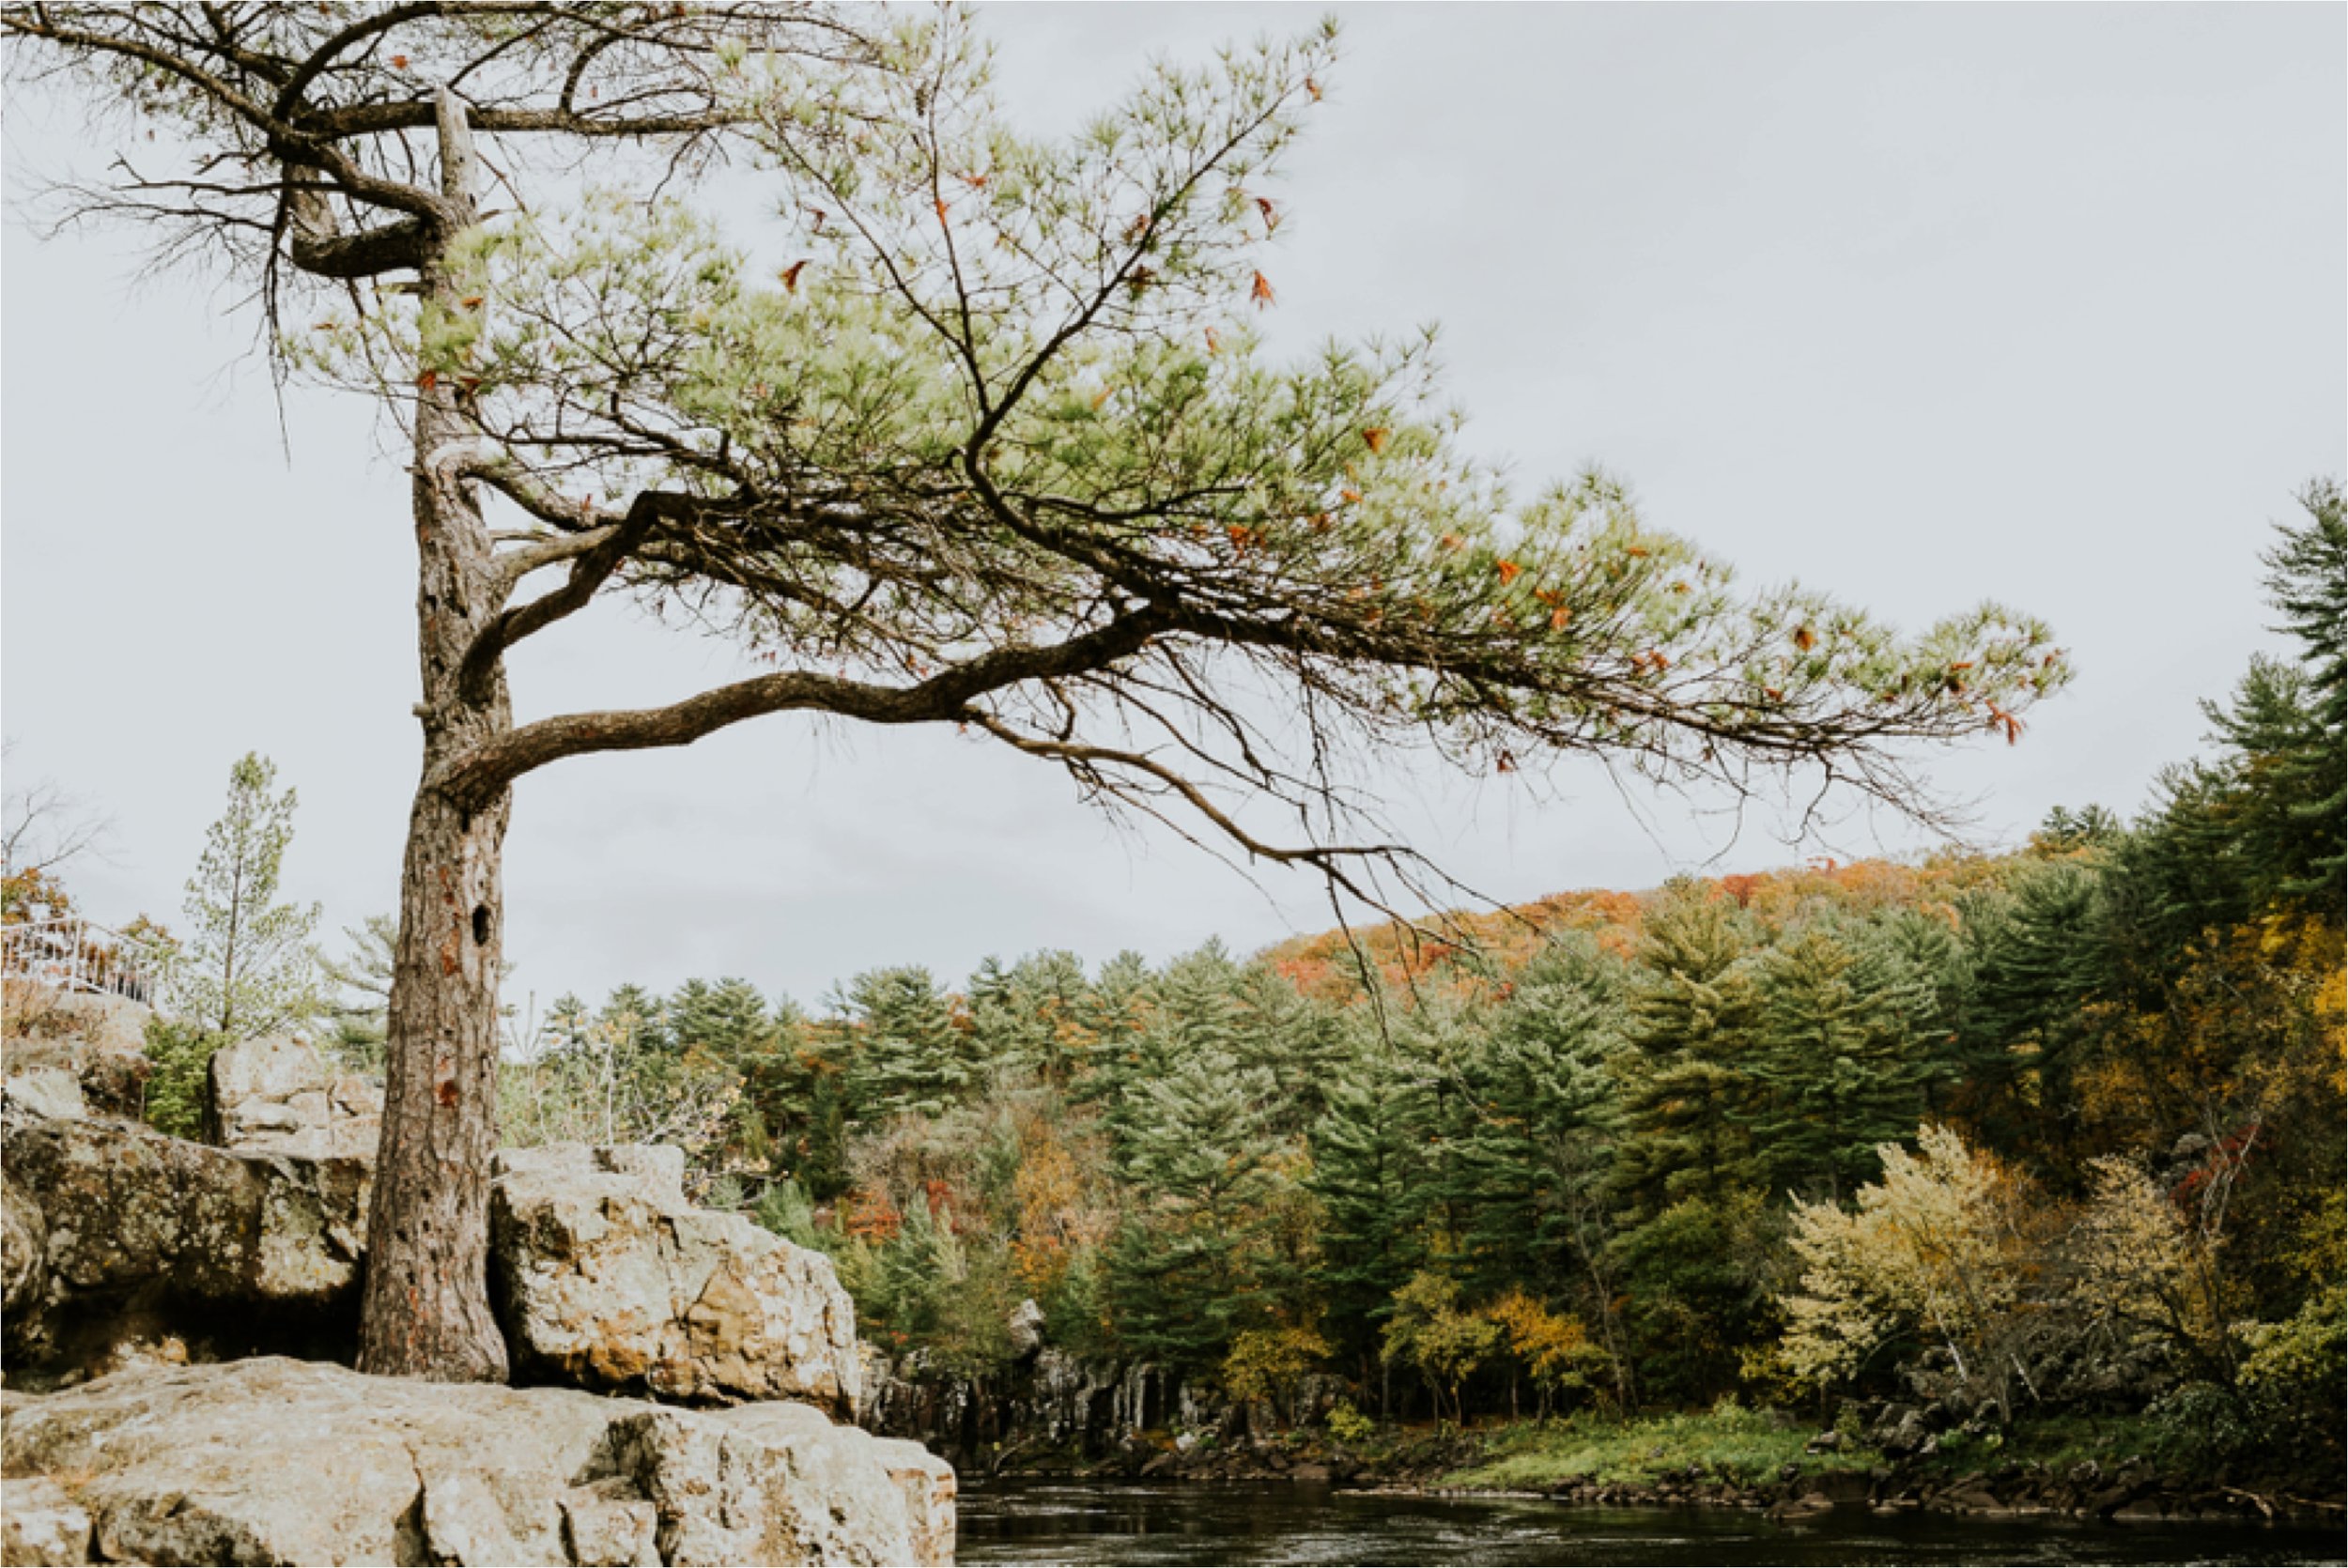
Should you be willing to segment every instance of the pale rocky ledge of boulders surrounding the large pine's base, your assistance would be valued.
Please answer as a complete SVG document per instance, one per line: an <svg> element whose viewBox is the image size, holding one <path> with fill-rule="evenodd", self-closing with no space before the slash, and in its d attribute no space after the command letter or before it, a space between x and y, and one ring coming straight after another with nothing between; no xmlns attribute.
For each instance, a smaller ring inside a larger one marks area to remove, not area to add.
<svg viewBox="0 0 2348 1568"><path fill-rule="evenodd" d="M230 1148L169 1138L127 1007L0 1042L0 1563L953 1561L953 1469L831 1420L831 1261L695 1209L676 1150L500 1160L500 1326L561 1387L364 1378L366 1087L237 1047Z"/></svg>

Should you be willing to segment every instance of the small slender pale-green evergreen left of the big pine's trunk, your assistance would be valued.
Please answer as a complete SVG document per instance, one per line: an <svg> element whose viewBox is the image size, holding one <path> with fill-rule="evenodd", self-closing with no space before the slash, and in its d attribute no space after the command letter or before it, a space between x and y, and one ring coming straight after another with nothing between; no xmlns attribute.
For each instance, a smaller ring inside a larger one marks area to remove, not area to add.
<svg viewBox="0 0 2348 1568"><path fill-rule="evenodd" d="M188 883L174 1000L218 1045L291 1028L319 1009L310 951L319 906L277 901L294 843L294 791L279 796L275 786L277 765L261 753L230 768L228 810L204 833Z"/></svg>

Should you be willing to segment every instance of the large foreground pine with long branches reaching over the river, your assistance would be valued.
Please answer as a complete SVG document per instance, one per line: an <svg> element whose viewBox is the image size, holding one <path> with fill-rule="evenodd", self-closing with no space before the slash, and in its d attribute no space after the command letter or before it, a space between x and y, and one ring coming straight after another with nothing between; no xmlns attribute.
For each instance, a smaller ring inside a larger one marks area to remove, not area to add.
<svg viewBox="0 0 2348 1568"><path fill-rule="evenodd" d="M19 75L193 153L99 207L214 244L289 364L413 420L423 768L371 1371L505 1371L484 1218L526 772L780 711L956 725L1378 899L1409 857L1364 822L1345 756L1585 751L1735 786L1815 768L1914 805L1902 742L2012 735L2062 681L2045 629L1998 608L1900 641L1806 592L1738 594L1604 479L1512 495L1458 448L1423 338L1275 361L1251 331L1275 305L1270 181L1331 33L1160 66L1043 146L1005 124L960 16L862 21L0 12ZM669 178L721 138L772 178L770 256ZM566 204L596 148L606 188ZM531 190L533 169L554 181ZM507 650L601 594L695 617L763 674L517 725ZM1296 838L1249 800L1289 807Z"/></svg>

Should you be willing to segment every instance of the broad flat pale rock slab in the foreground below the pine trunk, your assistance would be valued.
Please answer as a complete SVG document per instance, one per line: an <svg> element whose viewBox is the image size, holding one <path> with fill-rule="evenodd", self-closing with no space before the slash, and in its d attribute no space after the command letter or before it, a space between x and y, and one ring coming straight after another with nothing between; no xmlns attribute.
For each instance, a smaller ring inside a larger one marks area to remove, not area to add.
<svg viewBox="0 0 2348 1568"><path fill-rule="evenodd" d="M0 1397L0 1472L9 1540L110 1563L953 1561L944 1460L784 1404L143 1368Z"/></svg>

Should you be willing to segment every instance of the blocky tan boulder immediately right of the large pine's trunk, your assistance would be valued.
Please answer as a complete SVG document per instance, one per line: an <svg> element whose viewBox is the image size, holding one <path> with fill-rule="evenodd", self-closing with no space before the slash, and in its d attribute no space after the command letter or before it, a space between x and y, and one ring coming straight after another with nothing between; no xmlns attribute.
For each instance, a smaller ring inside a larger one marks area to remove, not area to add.
<svg viewBox="0 0 2348 1568"><path fill-rule="evenodd" d="M857 1413L855 1305L831 1258L688 1204L674 1148L498 1155L488 1244L524 1380Z"/></svg>

